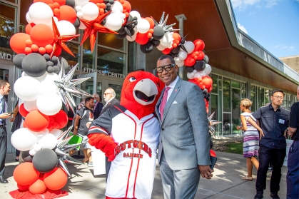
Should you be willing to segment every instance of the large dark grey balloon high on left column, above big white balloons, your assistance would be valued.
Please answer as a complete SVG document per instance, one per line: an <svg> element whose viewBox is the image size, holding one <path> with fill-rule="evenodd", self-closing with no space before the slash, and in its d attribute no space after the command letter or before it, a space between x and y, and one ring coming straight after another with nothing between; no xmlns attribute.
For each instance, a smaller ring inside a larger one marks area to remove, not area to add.
<svg viewBox="0 0 299 199"><path fill-rule="evenodd" d="M39 53L30 53L22 61L22 69L29 76L42 76L46 72L46 68L46 59Z"/></svg>

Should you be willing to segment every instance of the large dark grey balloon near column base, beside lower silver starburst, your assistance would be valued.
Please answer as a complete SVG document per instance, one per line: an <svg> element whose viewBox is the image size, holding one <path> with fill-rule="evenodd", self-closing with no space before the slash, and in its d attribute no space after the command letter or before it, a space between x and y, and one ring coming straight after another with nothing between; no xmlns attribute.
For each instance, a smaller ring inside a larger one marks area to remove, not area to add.
<svg viewBox="0 0 299 199"><path fill-rule="evenodd" d="M36 152L32 163L34 164L34 168L39 172L48 173L56 168L58 158L54 150L43 148Z"/></svg>

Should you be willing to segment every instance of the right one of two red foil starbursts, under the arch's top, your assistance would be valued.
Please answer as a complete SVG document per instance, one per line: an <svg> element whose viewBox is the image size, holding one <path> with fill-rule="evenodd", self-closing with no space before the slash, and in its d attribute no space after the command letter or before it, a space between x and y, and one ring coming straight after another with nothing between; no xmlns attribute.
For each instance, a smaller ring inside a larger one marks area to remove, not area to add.
<svg viewBox="0 0 299 199"><path fill-rule="evenodd" d="M118 34L116 31L112 31L111 29L106 28L101 25L102 21L111 13L111 11L106 12L105 14L98 14L98 17L93 21L87 21L86 19L80 19L82 23L86 26L86 29L83 34L83 38L81 41L81 45L88 38L91 42L91 52L93 52L94 44L96 43L96 33L110 33L110 34Z"/></svg>

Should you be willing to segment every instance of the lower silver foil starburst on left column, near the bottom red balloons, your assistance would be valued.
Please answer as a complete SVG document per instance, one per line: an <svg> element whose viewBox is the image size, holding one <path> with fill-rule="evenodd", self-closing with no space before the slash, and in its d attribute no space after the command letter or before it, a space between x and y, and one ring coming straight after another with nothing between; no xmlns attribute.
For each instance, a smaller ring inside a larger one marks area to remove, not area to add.
<svg viewBox="0 0 299 199"><path fill-rule="evenodd" d="M56 148L54 150L56 155L58 156L59 166L70 177L71 177L71 173L69 173L69 169L66 166L66 163L73 163L73 164L79 164L79 165L83 164L83 163L81 163L81 161L76 160L75 158L72 158L68 153L70 150L77 148L78 146L81 146L81 143L69 144L69 141L71 140L71 138L73 138L73 135L69 136L72 128L73 128L73 126L70 126L66 131L64 131L64 133L61 134L61 136L59 136L57 138L58 142L57 142Z"/></svg>

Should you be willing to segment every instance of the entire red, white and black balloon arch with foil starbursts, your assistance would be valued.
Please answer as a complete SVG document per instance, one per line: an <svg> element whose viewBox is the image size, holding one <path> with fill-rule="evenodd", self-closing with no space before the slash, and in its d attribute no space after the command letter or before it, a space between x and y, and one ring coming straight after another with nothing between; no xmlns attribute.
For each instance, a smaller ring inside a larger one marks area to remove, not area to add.
<svg viewBox="0 0 299 199"><path fill-rule="evenodd" d="M68 117L61 111L62 103L74 111L73 96L89 96L76 86L88 78L73 79L76 67L65 73L68 64L59 57L66 46L84 30L81 45L90 40L93 51L97 33L115 34L118 39L128 39L140 44L143 53L156 47L173 56L178 67L185 66L187 77L202 90L208 113L208 98L212 91L211 66L201 39L186 41L167 25L164 13L159 22L153 17L141 17L131 11L124 0L34 0L26 14L26 33L14 34L10 45L14 50L14 65L24 73L16 80L14 92L19 97L19 113L25 118L23 126L11 136L12 145L22 151L24 163L14 170L14 180L19 190L13 198L58 198L68 195L61 190L70 175L66 163L81 163L71 158L69 145L71 128L62 132Z"/></svg>

